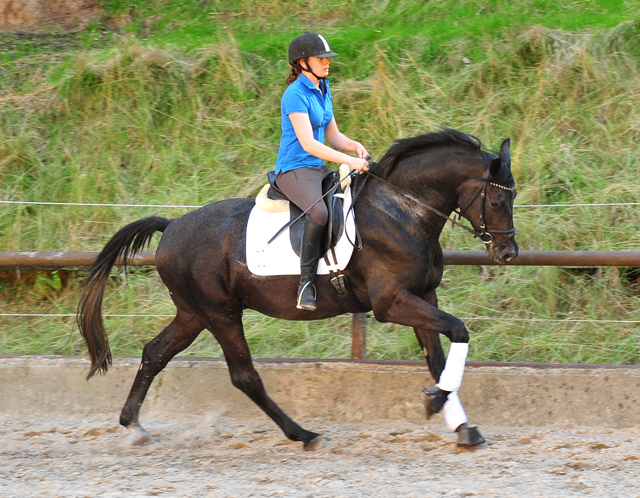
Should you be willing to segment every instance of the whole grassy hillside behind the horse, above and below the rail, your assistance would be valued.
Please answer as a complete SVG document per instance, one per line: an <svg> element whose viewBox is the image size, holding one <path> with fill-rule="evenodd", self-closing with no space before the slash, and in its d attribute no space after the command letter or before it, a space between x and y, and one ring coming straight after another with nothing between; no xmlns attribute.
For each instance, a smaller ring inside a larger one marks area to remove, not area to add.
<svg viewBox="0 0 640 498"><path fill-rule="evenodd" d="M254 195L272 168L288 42L321 31L342 131L380 157L439 126L512 138L520 205L640 201L640 1L105 1L74 35L0 35L0 200L194 206ZM190 208L0 205L2 251L99 250L121 226ZM521 249L637 250L638 206L516 209ZM157 241L157 238L156 238ZM446 228L447 249L480 249ZM2 313L75 310L77 278L0 284ZM449 267L443 309L472 360L640 363L637 274ZM24 279L23 279L24 280ZM171 315L154 271L114 277L105 314ZM110 317L139 354L167 317ZM608 320L608 321L603 321ZM369 320L369 356L419 358ZM0 316L0 353L83 353L73 319ZM246 317L258 357L350 352L348 317ZM202 337L185 354L220 355Z"/></svg>

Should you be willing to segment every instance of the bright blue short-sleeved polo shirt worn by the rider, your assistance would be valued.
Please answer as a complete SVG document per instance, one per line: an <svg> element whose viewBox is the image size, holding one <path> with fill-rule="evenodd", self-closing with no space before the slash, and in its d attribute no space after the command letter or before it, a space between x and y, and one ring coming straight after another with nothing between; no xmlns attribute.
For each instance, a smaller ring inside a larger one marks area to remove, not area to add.
<svg viewBox="0 0 640 498"><path fill-rule="evenodd" d="M312 156L302 148L296 135L289 114L303 112L309 115L313 138L324 143L324 132L333 119L333 102L327 81L327 93L322 95L309 78L300 74L298 79L285 90L280 103L282 113L282 138L276 161L276 173L291 171L303 167L322 166L319 157Z"/></svg>

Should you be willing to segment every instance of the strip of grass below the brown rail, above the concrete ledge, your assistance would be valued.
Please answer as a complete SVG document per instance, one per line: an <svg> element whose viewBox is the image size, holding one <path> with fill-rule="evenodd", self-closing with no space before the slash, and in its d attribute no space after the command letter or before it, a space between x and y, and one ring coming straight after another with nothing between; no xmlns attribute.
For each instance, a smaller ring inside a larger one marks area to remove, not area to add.
<svg viewBox="0 0 640 498"><path fill-rule="evenodd" d="M584 274L556 268L453 267L440 290L442 308L466 320L474 361L637 364L640 312L629 302L616 269ZM73 315L78 276L62 286L39 274L30 284L5 285L0 299L13 314ZM25 277L23 277L24 279ZM519 289L512 293L510 281ZM53 283L52 283L53 282ZM576 294L578 292L578 294ZM637 301L637 299L636 299ZM607 303L603 308L596 303ZM552 311L550 313L550 311ZM153 269L114 275L105 294L105 324L112 349L139 355L175 310ZM120 316L118 316L120 315ZM156 316L127 316L156 315ZM549 318L552 317L552 318ZM589 320L593 320L590 322ZM72 316L3 317L3 354L84 354ZM349 358L351 317L313 322L275 320L248 310L245 332L252 353L262 358ZM367 320L367 355L372 359L421 359L410 328ZM445 347L448 341L444 341ZM184 356L222 356L207 332Z"/></svg>

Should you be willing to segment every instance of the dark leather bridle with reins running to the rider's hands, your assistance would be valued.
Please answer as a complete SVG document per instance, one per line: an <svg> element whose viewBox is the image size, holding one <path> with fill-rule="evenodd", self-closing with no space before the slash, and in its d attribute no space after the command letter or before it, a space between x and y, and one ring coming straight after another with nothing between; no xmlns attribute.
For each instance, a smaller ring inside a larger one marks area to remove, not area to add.
<svg viewBox="0 0 640 498"><path fill-rule="evenodd" d="M351 174L353 175L354 173L357 173L357 172L354 171ZM403 188L398 187L397 185L385 180L384 178L381 178L381 177L373 174L371 171L365 171L365 173L367 174L367 177L373 177L376 180L379 180L382 183L384 183L386 185L389 185L390 187L394 188L395 190L400 192L402 195L404 195L408 199L411 199L412 201L416 202L417 204L420 204L422 207L428 209L432 213L435 213L436 215L440 216L441 218L444 218L445 220L450 221L451 222L451 226L455 227L457 225L457 226L463 228L464 230L466 230L467 232L471 233L474 237L478 237L484 243L484 245L487 247L487 249L489 249L489 250L493 250L494 247L495 247L495 243L494 243L492 234L501 234L501 235L502 234L507 234L507 238L504 239L499 245L505 244L509 239L512 239L516 235L516 228L514 226L512 226L511 228L504 229L504 230L500 230L500 229L497 229L497 228L487 228L487 226L486 226L485 210L486 210L486 203L487 203L487 187L489 185L491 185L492 187L500 188L502 190L507 190L509 192L513 192L513 191L516 190L515 187L506 187L504 185L500 185L499 183L490 182L489 181L489 168L487 168L487 170L484 173L484 175L482 176L482 178L479 179L479 181L482 182L482 186L478 189L478 191L473 196L471 201L469 201L467 203L467 205L464 207L464 209L458 208L457 210L456 209L453 210L453 212L457 216L457 219L456 219L456 216L447 216L442 211L434 208L433 206L430 206L429 204L426 204L425 202L421 201L420 199L418 199L413 194L411 194L411 193L407 192L406 190L404 190ZM362 190L362 189L360 189L360 190ZM467 212L467 210L476 201L476 199L478 199L478 197L480 197L482 199L482 208L481 208L481 212L480 212L480 230L481 231L478 231L478 230L474 229L473 227L469 228L468 226L463 225L462 223L460 223L460 220L462 219L462 216L464 215L464 213ZM355 203L355 199L354 199L354 203Z"/></svg>

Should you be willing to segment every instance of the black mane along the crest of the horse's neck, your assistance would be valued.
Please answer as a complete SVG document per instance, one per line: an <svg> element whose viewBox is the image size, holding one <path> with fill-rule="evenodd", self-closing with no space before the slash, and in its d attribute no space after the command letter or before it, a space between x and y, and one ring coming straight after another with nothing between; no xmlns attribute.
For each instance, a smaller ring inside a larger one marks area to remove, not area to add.
<svg viewBox="0 0 640 498"><path fill-rule="evenodd" d="M376 175L386 178L402 157L427 148L447 145L462 145L480 150L482 142L476 137L452 128L443 128L440 131L425 133L417 137L401 138L393 143L373 171Z"/></svg>

